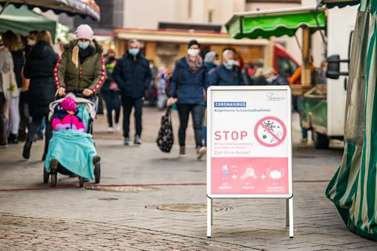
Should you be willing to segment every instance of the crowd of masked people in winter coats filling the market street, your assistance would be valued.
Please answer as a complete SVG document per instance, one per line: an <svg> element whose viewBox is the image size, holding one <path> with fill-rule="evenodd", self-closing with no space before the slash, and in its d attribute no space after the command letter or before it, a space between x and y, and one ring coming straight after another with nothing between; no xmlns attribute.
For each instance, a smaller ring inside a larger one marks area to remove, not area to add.
<svg viewBox="0 0 377 251"><path fill-rule="evenodd" d="M222 55L214 51L202 55L196 40L187 43L186 55L167 67L145 58L137 40L129 40L120 58L111 49L104 54L88 25L77 27L76 39L69 43L53 43L48 31L32 31L27 36L7 31L1 35L0 146L26 141L25 159L30 157L33 141L46 139L47 149L52 134L49 104L68 90L80 89L83 96L94 96L97 114L104 114L106 107L109 133L122 130L122 106L124 145L130 144L133 109L137 145L141 144L144 104L177 110L180 156L185 155L185 131L191 113L197 157L202 158L206 152L209 86L294 85L301 81L301 67L292 76L285 76L266 67L262 59L245 63L233 49L225 49ZM311 60L312 83L325 82L324 67L322 64L316 69ZM300 100L295 100L294 106L300 111Z"/></svg>

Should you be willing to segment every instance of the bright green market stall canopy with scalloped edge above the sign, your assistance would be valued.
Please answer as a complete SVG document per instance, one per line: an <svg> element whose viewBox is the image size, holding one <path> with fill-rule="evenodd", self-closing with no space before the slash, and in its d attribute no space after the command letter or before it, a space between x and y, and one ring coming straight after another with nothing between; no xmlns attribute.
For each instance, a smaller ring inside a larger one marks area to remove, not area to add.
<svg viewBox="0 0 377 251"><path fill-rule="evenodd" d="M228 34L235 39L270 38L294 36L303 26L311 28L311 33L326 27L324 9L291 8L274 11L257 11L235 14L226 23Z"/></svg>

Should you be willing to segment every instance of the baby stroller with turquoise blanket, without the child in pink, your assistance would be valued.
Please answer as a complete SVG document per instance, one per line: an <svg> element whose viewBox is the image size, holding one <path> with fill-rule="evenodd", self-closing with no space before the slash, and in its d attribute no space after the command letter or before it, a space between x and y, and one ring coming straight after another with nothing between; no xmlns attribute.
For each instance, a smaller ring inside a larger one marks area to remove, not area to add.
<svg viewBox="0 0 377 251"><path fill-rule="evenodd" d="M48 152L43 168L43 183L47 184L51 176L51 186L57 183L57 173L67 176L78 176L79 186L83 187L84 180L101 180L101 163L93 163L97 156L95 143L92 140L92 124L96 118L95 97L83 97L82 91L72 92L77 106L77 117L85 125L85 132L76 130L54 131L49 143ZM71 94L68 94L71 95ZM67 96L68 96L67 95ZM49 121L58 112L64 97L50 103ZM97 156L98 157L98 156ZM57 161L57 166L51 165ZM53 166L53 168L51 168Z"/></svg>

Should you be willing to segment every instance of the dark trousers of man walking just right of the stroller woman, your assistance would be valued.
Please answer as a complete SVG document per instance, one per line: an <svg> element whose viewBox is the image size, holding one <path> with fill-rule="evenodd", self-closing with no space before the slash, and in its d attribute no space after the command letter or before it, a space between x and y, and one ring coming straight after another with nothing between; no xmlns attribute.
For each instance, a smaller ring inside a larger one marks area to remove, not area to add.
<svg viewBox="0 0 377 251"><path fill-rule="evenodd" d="M136 134L141 136L141 115L143 108L142 98L133 98L128 96L122 96L122 106L123 106L123 136L130 137L130 116L132 107L135 107L135 128Z"/></svg>

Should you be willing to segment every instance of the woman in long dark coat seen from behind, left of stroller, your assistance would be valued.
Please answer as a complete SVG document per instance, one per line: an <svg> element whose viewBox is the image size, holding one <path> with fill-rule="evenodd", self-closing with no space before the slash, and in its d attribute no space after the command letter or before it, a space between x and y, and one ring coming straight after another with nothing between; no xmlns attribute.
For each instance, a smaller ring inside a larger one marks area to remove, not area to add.
<svg viewBox="0 0 377 251"><path fill-rule="evenodd" d="M25 63L24 76L30 79L29 85L29 113L32 117L30 130L24 146L22 156L30 158L30 149L43 117L46 119L45 149L42 159L46 157L48 142L52 130L48 122L49 104L54 101L56 85L54 68L58 61L58 54L54 52L51 34L48 31L38 33L37 42L30 51Z"/></svg>

